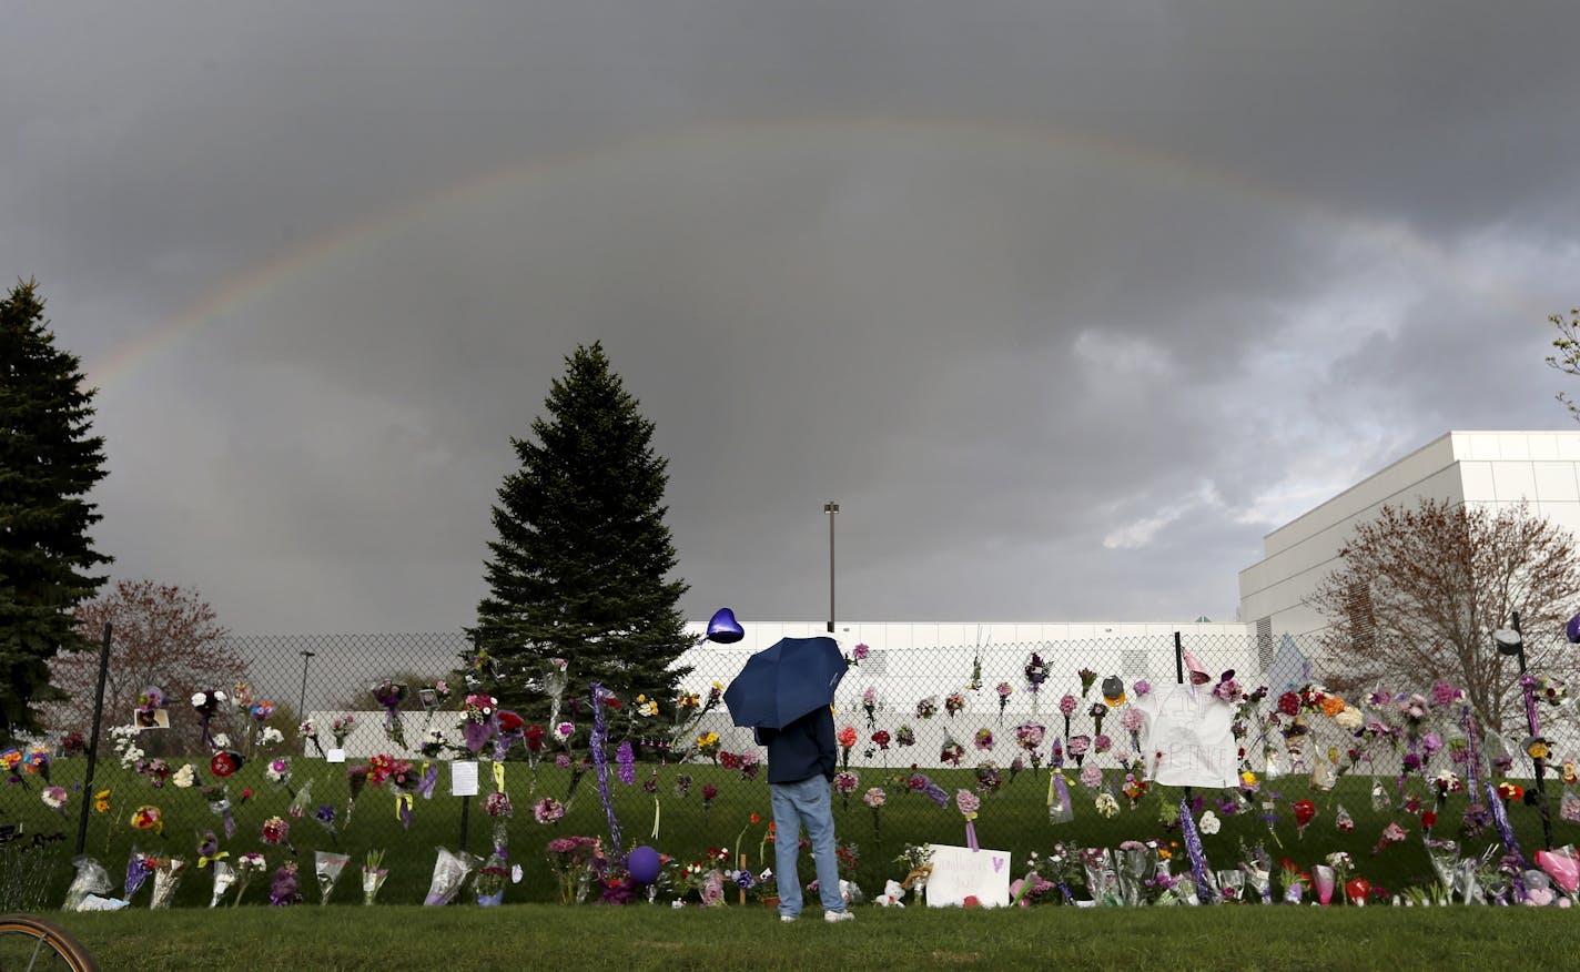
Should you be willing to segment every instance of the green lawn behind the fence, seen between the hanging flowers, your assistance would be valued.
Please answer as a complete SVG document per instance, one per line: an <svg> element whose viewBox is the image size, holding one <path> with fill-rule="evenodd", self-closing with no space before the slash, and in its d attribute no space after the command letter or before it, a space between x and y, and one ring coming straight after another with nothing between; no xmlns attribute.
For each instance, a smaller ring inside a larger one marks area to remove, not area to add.
<svg viewBox="0 0 1580 972"><path fill-rule="evenodd" d="M180 765L183 760L172 760ZM239 803L234 809L237 833L232 839L221 839L224 850L234 860L250 850L261 850L270 868L288 860L289 853L283 847L262 844L259 828L264 819L286 814L289 797L275 784L262 778L262 762L253 760L231 778L231 797L237 801L243 789L251 789L253 797ZM207 768L204 760L202 768ZM55 765L54 782L73 789L76 779L73 773L81 773L81 760L63 760ZM834 817L842 842L853 842L860 847L858 883L869 896L882 890L886 879L904 877L905 869L894 863L896 853L905 844L964 844L964 822L961 814L951 806L940 809L924 797L908 793L897 779L907 773L904 770L885 770L883 767L853 767L861 773L861 786L844 806L841 798L834 798ZM638 765L638 784L651 773L653 767ZM690 774L694 784L690 793L679 797L675 792L675 779L679 773ZM1115 771L1108 776L1112 781ZM739 839L739 847L747 853L749 865L757 869L763 865L760 850L766 850L771 865L773 847L762 846L765 823L769 819L768 787L760 779L746 782L736 773L725 771L713 765L664 767L657 776L657 798L662 809L662 827L657 839L651 836L654 820L654 798L640 786L624 786L613 779L610 768L610 784L615 812L627 846L653 844L660 852L679 861L702 857L708 847L719 846L733 849ZM1006 774L1008 776L1008 774ZM932 778L951 793L957 787L969 787L975 782L972 770L934 771ZM534 778L525 763L507 765L507 790L515 803L515 814L509 820L510 858L525 869L525 879L506 891L507 902L553 902L556 901L556 885L550 872L544 852L545 844L566 834L608 836L608 822L599 800L597 779L588 773L575 790L575 798L562 820L553 827L544 827L532 820L531 804L542 795L564 800L569 792L569 771L545 767ZM303 819L291 819L291 844L297 852L297 860L303 863L302 885L308 902L318 902L318 888L313 882L313 852L318 849L337 849L352 855L352 869L343 876L333 904L360 906L359 879L354 872L362 855L371 849L387 850L386 866L390 869L379 902L389 906L420 904L433 872L436 847L457 849L461 846L463 820L466 828L466 849L472 853L485 855L493 820L482 811L482 800L463 801L449 795L449 773L442 771L433 800L416 800L411 828L404 828L395 814L395 801L389 790L368 787L357 801L349 822L344 819L346 778L344 768L327 765L322 760L297 759L294 784L313 782L311 806L330 804L337 808L337 833L332 836L313 820L313 812ZM705 784L717 786L717 797L703 811L702 790ZM880 811L878 828L874 828L872 811L861 803L860 793L867 787L883 786L888 790L888 803ZM1202 793L1206 808L1215 809L1223 827L1217 834L1204 834L1202 842L1213 868L1234 868L1240 860L1242 846L1258 842L1267 847L1275 866L1280 857L1289 857L1302 868L1319 863L1322 857L1334 850L1346 850L1356 860L1356 874L1364 876L1375 885L1392 891L1411 885L1427 885L1433 880L1427 855L1420 844L1419 817L1398 809L1400 800L1392 779L1382 781L1384 789L1394 797L1394 806L1375 811L1371 806L1371 779L1345 778L1332 792L1310 792L1304 778L1281 778L1267 781L1262 795L1278 793L1275 800L1275 820L1272 827L1261 817L1259 804L1242 809L1232 816L1224 816L1218 804L1228 793ZM68 806L68 817L51 812L38 800L40 781L30 779L28 787L9 786L0 792L0 823L21 823L25 833L65 833L66 839L51 844L36 860L47 861L43 879L40 902L55 909L63 899L65 887L71 877L70 847L76 838L76 809L81 800L90 800L92 793L74 792ZM209 811L207 803L194 789L177 789L166 782L161 789L153 789L145 778L123 771L114 763L101 767L100 781L95 789L111 790L112 812L92 814L87 831L88 857L96 858L107 869L111 880L118 888L126 871L126 860L133 849L149 850L158 855L185 857L190 865L196 863L196 847L201 834L207 830L221 831L220 817ZM483 787L490 787L487 763ZM1553 806L1555 842L1566 844L1575 839L1580 827L1558 820L1556 801L1561 792L1558 781L1548 781L1548 800ZM1021 773L997 793L983 798L981 814L976 820L976 833L983 847L1005 849L1014 855L1013 871L1024 872L1025 855L1032 850L1046 853L1057 842L1073 846L1115 847L1127 839L1160 841L1164 846L1177 844L1180 831L1168 828L1160 822L1160 809L1164 803L1176 803L1177 790L1157 789L1147 793L1134 808L1120 798L1122 809L1112 819L1103 819L1093 811L1095 790L1082 787L1070 773L1070 790L1074 798L1076 819L1065 825L1051 825L1046 814L1048 773ZM1405 793L1425 795L1425 784L1420 779L1406 782ZM1258 800L1261 800L1258 797ZM1296 831L1291 803L1310 798L1318 806L1318 816L1300 836ZM164 814L163 834L139 833L128 825L128 816L139 804L158 804ZM1465 853L1480 853L1496 842L1496 833L1488 830L1477 838L1458 838L1458 820L1466 804L1465 795L1449 800L1441 814L1436 836L1462 839ZM466 816L463 817L463 806ZM1354 819L1354 830L1341 833L1335 827L1338 806L1345 806ZM1428 803L1430 806L1430 803ZM750 825L750 816L758 814L762 822ZM1533 808L1515 804L1510 808L1517 834L1526 853L1540 847L1542 833L1537 812ZM288 817L289 819L289 817ZM1384 827L1389 822L1400 822L1408 838L1401 844L1389 846L1381 853L1373 855ZM744 831L744 836L741 836ZM1183 849L1174 847L1177 855L1176 872L1188 868ZM13 871L16 871L13 868ZM803 865L803 880L809 880L812 871ZM8 880L16 880L9 877ZM267 876L253 880L243 898L243 904L267 902ZM118 890L117 890L118 893ZM149 887L144 887L134 898L136 906L145 910ZM210 879L205 871L190 868L174 904L179 909L205 907L210 898ZM35 909L36 910L36 909ZM337 909L338 910L338 909ZM360 914L360 912L359 912ZM160 918L160 921L169 918ZM487 920L487 918L485 918ZM997 918L995 918L997 920Z"/></svg>

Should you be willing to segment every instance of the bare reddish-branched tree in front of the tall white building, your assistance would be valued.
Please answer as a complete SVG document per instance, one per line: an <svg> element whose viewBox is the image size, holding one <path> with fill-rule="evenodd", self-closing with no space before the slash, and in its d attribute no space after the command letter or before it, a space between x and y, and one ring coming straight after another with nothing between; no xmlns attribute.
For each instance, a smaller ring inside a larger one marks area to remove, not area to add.
<svg viewBox="0 0 1580 972"><path fill-rule="evenodd" d="M1492 632L1515 612L1533 670L1577 670L1580 654L1563 637L1580 602L1574 537L1523 503L1499 512L1436 499L1384 506L1338 556L1343 566L1307 601L1327 618L1319 643L1337 691L1447 681L1501 730L1517 708L1520 672Z"/></svg>

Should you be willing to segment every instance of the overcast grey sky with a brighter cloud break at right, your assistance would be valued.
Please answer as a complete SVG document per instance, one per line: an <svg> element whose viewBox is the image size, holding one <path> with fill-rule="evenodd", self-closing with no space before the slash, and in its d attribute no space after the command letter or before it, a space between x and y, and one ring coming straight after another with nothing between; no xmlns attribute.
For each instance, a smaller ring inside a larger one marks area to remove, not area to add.
<svg viewBox="0 0 1580 972"><path fill-rule="evenodd" d="M1236 616L1450 428L1572 428L1580 6L16 5L0 273L95 537L237 632L446 631L602 340L687 616Z"/></svg>

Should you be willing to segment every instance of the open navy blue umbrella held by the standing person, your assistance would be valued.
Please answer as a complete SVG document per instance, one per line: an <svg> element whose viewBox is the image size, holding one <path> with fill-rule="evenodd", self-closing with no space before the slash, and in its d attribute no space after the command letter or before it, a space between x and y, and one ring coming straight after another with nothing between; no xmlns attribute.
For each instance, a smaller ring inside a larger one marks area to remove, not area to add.
<svg viewBox="0 0 1580 972"><path fill-rule="evenodd" d="M831 705L848 667L834 639L779 639L746 659L724 691L724 703L736 725L784 729Z"/></svg>

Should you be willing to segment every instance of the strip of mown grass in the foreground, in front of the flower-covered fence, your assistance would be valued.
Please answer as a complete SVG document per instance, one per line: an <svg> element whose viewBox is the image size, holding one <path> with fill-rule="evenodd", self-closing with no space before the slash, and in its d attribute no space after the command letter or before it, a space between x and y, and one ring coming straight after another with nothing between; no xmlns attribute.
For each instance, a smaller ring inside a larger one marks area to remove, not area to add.
<svg viewBox="0 0 1580 972"><path fill-rule="evenodd" d="M777 921L760 906L289 907L73 914L103 969L1561 969L1558 909L915 909Z"/></svg>

